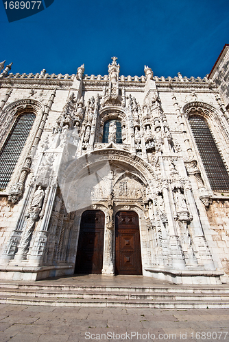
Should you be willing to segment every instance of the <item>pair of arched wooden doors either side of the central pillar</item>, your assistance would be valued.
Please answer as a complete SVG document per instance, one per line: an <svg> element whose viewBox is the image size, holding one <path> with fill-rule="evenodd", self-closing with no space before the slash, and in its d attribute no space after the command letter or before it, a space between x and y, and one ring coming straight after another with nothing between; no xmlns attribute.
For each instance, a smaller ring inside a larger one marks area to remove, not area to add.
<svg viewBox="0 0 229 342"><path fill-rule="evenodd" d="M75 273L101 274L104 225L102 211L82 214ZM115 217L115 274L142 274L138 215L134 211L119 211Z"/></svg>

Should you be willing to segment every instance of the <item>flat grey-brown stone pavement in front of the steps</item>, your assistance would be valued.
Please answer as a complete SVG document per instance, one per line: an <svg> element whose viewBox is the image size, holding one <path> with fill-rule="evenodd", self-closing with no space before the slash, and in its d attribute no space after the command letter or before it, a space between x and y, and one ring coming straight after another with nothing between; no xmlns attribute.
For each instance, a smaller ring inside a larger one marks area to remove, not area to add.
<svg viewBox="0 0 229 342"><path fill-rule="evenodd" d="M229 309L0 304L1 342L229 341Z"/></svg>

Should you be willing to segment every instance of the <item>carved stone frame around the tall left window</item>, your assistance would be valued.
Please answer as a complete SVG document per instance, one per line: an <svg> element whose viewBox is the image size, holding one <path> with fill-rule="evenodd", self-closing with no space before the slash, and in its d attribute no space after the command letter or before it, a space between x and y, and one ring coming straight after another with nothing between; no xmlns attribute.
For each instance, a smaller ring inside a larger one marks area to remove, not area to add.
<svg viewBox="0 0 229 342"><path fill-rule="evenodd" d="M23 168L25 159L29 155L29 151L33 146L44 111L44 105L32 99L14 101L3 110L0 120L0 150L1 148L3 148L5 141L11 134L12 128L14 127L14 124L19 116L24 114L34 114L36 118L32 125L32 129L30 130L30 133L27 137L27 141L25 142L21 155L16 162L16 166L14 168L14 172L12 173L11 179L5 190L1 192L1 195L8 195L10 187L14 183L19 181L21 169Z"/></svg>

